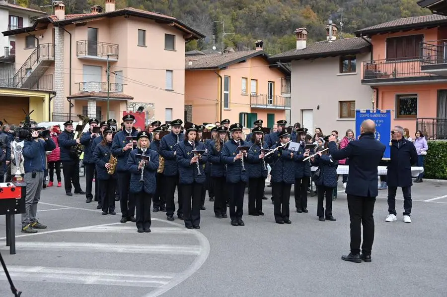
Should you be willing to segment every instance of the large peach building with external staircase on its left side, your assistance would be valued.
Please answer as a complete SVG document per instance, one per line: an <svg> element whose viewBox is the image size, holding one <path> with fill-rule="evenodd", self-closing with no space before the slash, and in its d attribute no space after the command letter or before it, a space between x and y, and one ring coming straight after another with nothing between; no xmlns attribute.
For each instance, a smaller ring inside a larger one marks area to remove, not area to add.
<svg viewBox="0 0 447 297"><path fill-rule="evenodd" d="M119 120L124 111L143 111L148 121L183 119L185 42L204 36L173 17L105 1L105 10L72 15L60 1L55 15L3 32L19 45L17 87L53 76L48 113L56 121Z"/></svg>

